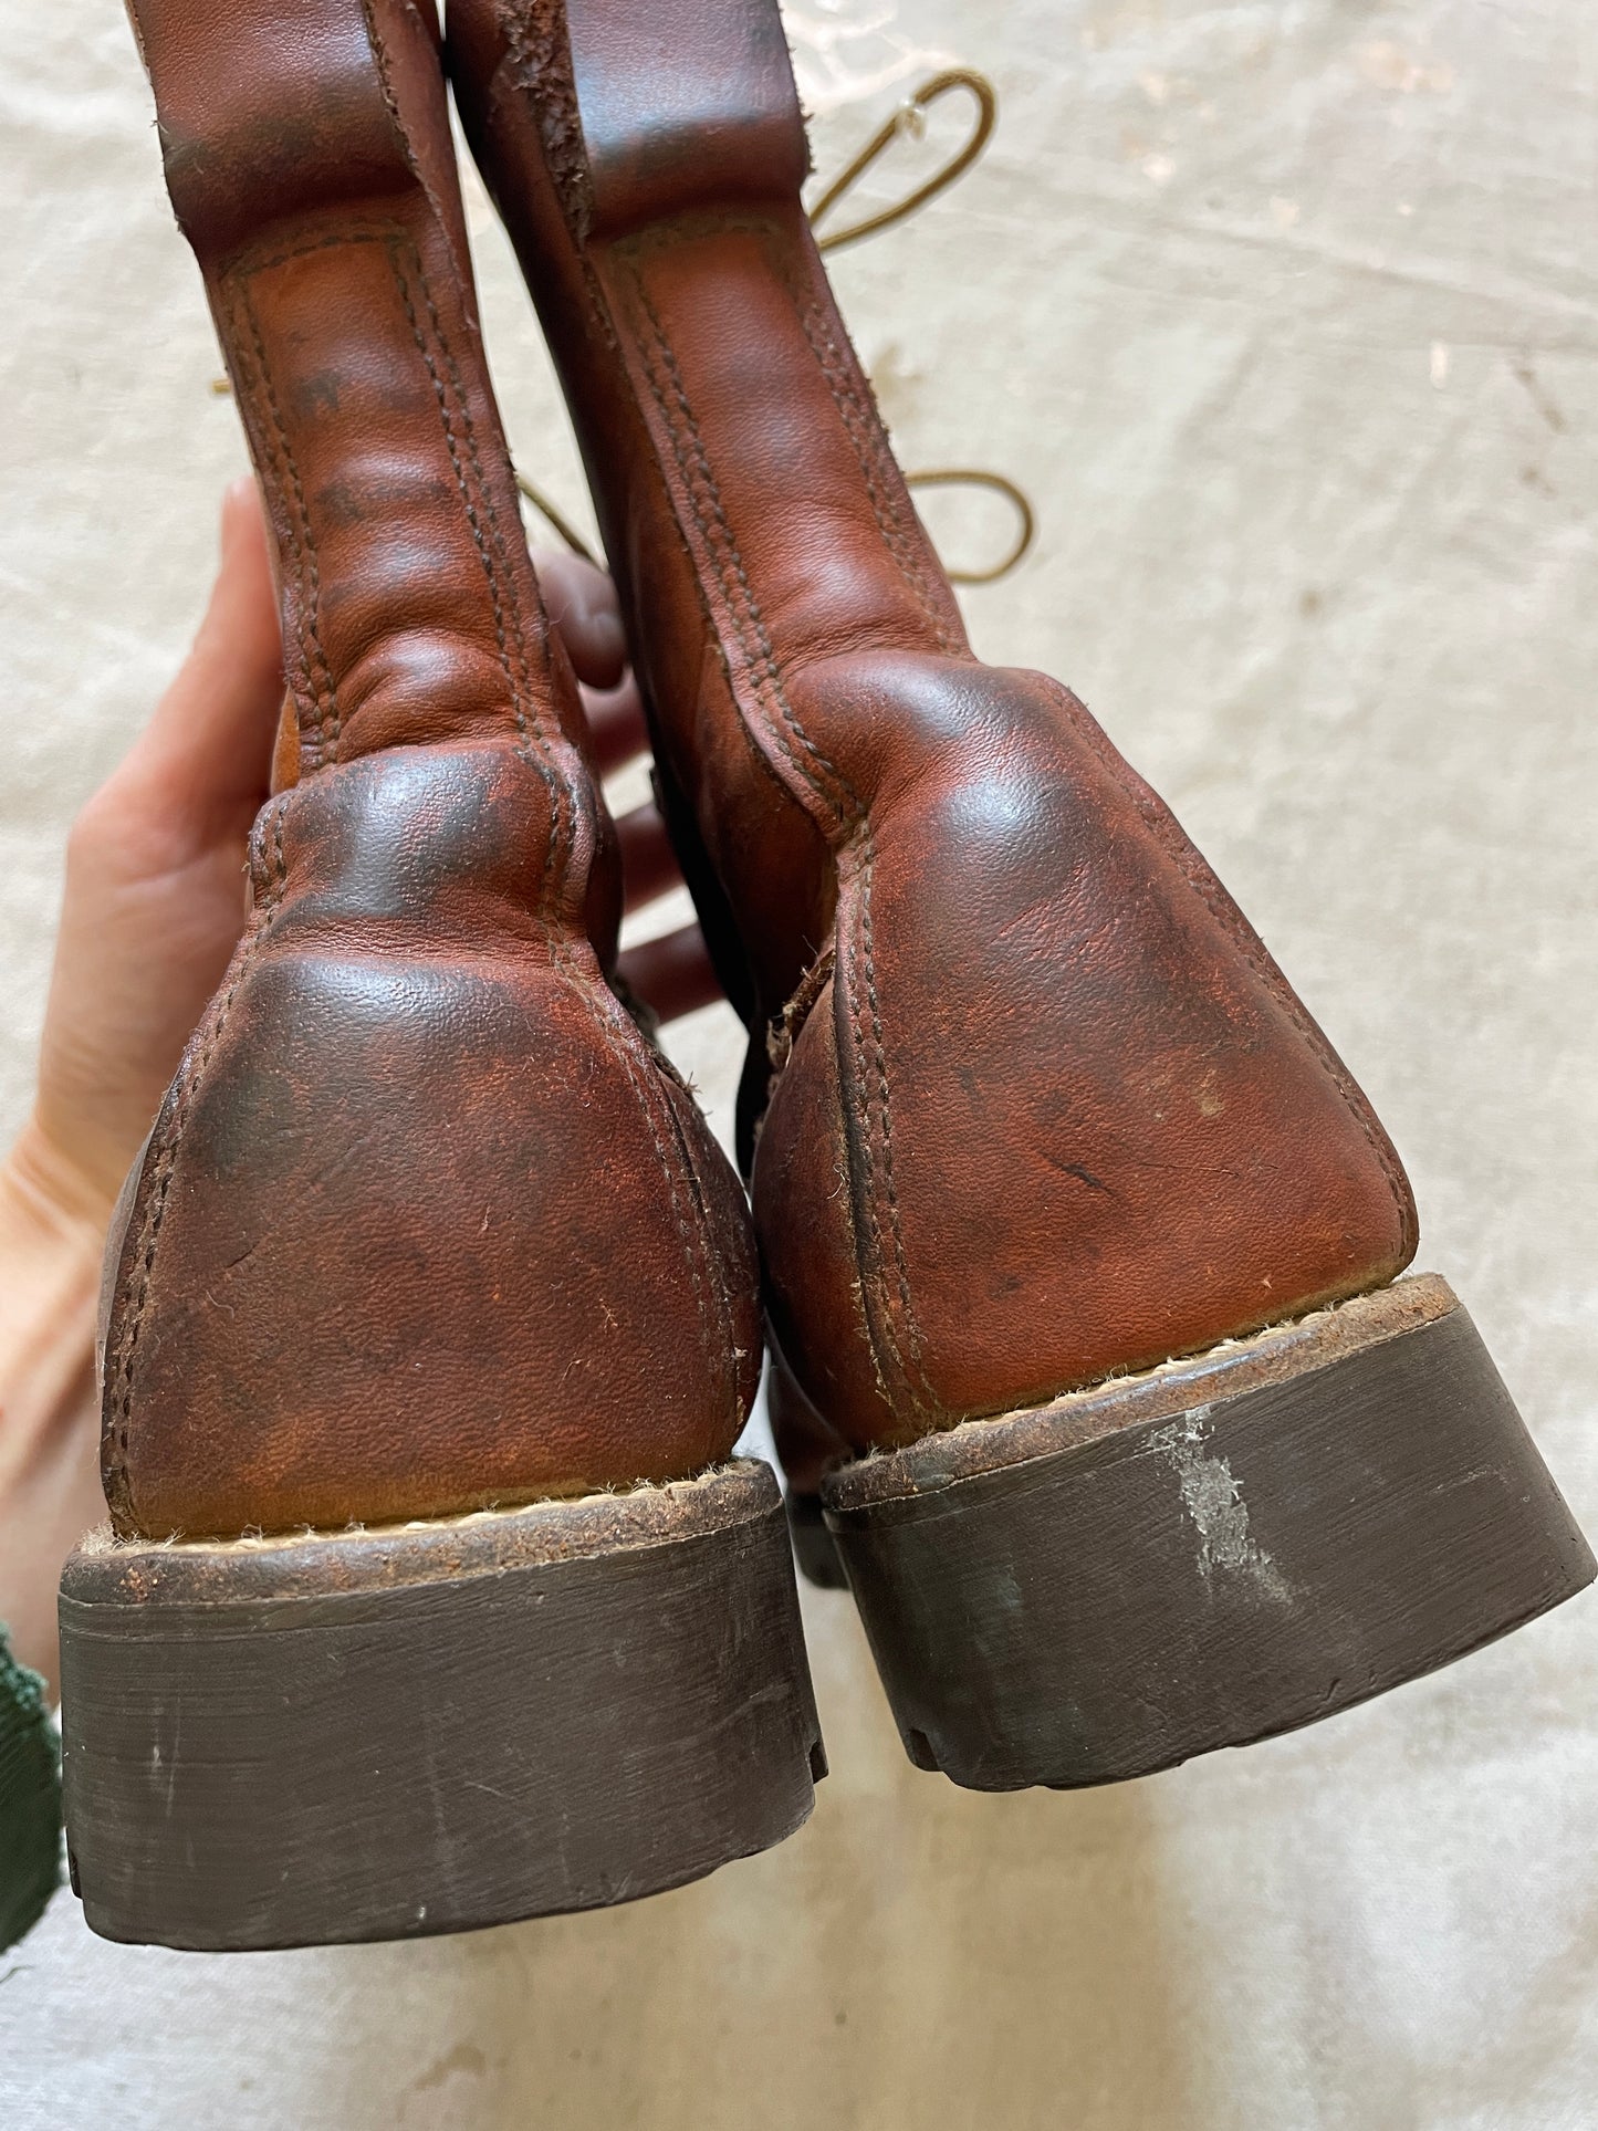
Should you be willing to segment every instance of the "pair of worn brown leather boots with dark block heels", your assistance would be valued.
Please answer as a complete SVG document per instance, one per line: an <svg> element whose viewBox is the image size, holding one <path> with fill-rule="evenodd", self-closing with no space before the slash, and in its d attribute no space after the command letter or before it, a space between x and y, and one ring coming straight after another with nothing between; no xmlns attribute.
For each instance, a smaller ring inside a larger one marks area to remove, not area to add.
<svg viewBox="0 0 1598 2131"><path fill-rule="evenodd" d="M290 703L111 1245L111 1532L62 1590L94 1929L450 1931L799 1826L788 1530L729 1462L763 1338L801 1539L957 1784L1257 1739L1581 1588L1468 1317L1393 1285L1359 1089L1082 705L972 656L776 0L450 0L447 45L418 0L134 15ZM614 985L445 70L750 1029L752 1225Z"/></svg>

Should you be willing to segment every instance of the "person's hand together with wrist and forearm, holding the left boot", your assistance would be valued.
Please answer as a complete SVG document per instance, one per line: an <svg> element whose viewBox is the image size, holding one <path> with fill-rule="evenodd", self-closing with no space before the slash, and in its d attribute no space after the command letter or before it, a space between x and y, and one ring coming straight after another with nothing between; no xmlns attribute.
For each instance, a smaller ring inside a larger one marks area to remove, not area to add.
<svg viewBox="0 0 1598 2131"><path fill-rule="evenodd" d="M539 558L601 774L643 752L616 590ZM115 1195L245 923L249 827L268 799L281 637L254 482L222 507L222 567L177 680L72 825L32 1117L0 1164L0 1622L55 1673L55 1583L104 1515L94 1308ZM654 808L618 825L624 901L675 886ZM716 997L697 927L622 957L663 1021Z"/></svg>

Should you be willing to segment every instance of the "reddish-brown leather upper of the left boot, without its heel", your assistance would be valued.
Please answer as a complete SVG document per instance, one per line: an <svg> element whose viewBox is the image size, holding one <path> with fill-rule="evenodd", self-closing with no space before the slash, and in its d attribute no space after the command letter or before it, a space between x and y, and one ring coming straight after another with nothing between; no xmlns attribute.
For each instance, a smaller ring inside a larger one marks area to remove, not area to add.
<svg viewBox="0 0 1598 2131"><path fill-rule="evenodd" d="M605 972L616 833L520 531L435 26L136 0L277 541L251 921L119 1238L124 1532L439 1515L720 1460L737 1178Z"/></svg>

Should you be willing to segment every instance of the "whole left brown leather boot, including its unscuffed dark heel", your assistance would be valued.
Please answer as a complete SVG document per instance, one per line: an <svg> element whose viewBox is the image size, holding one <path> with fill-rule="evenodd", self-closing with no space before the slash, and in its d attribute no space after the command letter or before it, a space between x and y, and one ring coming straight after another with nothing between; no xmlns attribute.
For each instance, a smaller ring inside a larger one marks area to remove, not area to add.
<svg viewBox="0 0 1598 2131"><path fill-rule="evenodd" d="M437 32L409 0L134 19L290 710L249 927L111 1247L75 1882L96 1931L202 1948L633 1899L788 1835L822 1762L778 1487L727 1464L748 1215L607 982L616 831Z"/></svg>

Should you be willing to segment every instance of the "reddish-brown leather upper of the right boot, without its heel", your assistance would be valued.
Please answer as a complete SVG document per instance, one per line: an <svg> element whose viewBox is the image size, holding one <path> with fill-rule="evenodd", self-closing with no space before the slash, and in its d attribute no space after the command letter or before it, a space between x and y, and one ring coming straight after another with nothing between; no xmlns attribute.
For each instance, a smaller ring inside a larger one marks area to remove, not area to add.
<svg viewBox="0 0 1598 2131"><path fill-rule="evenodd" d="M450 64L752 1029L771 1323L869 1447L1374 1287L1415 1210L1161 801L1065 688L972 656L754 17L776 32L765 0L454 0ZM648 156L646 47L682 77Z"/></svg>

